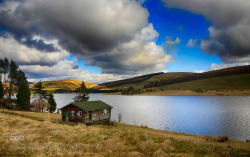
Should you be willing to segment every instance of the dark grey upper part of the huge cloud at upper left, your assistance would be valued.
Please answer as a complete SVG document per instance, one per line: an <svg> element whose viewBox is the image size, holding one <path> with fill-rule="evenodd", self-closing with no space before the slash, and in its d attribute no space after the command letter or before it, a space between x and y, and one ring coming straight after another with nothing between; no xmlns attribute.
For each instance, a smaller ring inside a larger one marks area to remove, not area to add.
<svg viewBox="0 0 250 157"><path fill-rule="evenodd" d="M136 1L5 2L0 11L0 23L13 32L16 39L32 38L40 33L52 35L68 51L81 55L108 51L118 43L132 39L147 24L148 18L147 10ZM41 48L41 44L35 45Z"/></svg>

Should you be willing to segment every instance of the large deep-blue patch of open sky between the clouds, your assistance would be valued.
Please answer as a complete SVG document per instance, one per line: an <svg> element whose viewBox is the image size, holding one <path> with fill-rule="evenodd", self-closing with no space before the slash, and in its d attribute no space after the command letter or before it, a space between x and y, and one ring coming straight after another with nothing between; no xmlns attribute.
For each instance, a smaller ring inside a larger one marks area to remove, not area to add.
<svg viewBox="0 0 250 157"><path fill-rule="evenodd" d="M181 43L176 45L176 52L173 53L174 63L168 64L169 72L207 70L212 63L221 64L216 55L208 56L203 53L199 48L199 42L195 47L186 47L189 39L199 41L208 38L208 28L211 23L202 15L195 15L180 9L168 9L160 0L146 1L145 7L150 13L149 22L153 23L160 33L157 44L162 45L166 37L181 39Z"/></svg>

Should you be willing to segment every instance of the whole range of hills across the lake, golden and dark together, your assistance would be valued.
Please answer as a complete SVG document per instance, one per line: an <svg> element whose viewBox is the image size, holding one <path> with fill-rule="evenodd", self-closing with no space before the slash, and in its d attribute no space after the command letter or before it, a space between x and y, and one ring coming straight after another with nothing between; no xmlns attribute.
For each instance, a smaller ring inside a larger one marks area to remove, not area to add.
<svg viewBox="0 0 250 157"><path fill-rule="evenodd" d="M79 87L79 80L44 81L44 89L51 92L72 92ZM102 83L85 82L92 93L114 93L121 89L164 90L241 90L250 89L250 66L239 66L205 73L171 72L152 73L134 78ZM34 84L30 85L32 89ZM150 90L152 91L152 90ZM250 93L249 93L250 94Z"/></svg>

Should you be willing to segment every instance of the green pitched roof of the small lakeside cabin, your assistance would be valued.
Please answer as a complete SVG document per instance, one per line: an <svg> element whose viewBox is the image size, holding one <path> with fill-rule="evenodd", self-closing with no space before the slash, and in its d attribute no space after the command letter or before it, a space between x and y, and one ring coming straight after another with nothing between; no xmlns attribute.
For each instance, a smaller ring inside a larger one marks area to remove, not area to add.
<svg viewBox="0 0 250 157"><path fill-rule="evenodd" d="M106 104L102 101L79 101L79 102L73 102L70 103L62 108L65 108L69 105L74 105L83 111L95 111L95 110L104 110L104 109L110 109L113 108L112 106Z"/></svg>

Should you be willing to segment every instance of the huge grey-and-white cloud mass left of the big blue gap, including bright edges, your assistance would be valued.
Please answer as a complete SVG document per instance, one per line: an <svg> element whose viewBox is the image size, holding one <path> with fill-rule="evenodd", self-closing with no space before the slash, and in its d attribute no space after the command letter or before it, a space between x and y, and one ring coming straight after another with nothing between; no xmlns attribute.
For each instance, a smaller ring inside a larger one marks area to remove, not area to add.
<svg viewBox="0 0 250 157"><path fill-rule="evenodd" d="M46 61L53 65L71 53L103 73L138 74L163 71L171 58L154 42L159 34L136 0L13 0L0 6L0 14L16 47L30 53L34 48L40 58L50 54ZM2 50L16 56L6 46ZM42 62L24 51L19 56L26 64Z"/></svg>

